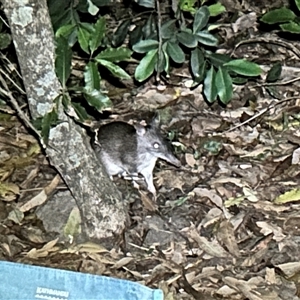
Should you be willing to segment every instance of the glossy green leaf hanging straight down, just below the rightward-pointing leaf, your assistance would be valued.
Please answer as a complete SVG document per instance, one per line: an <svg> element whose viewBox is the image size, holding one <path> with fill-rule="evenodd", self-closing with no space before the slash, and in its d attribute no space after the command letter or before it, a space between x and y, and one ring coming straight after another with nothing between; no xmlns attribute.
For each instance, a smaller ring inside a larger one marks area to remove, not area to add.
<svg viewBox="0 0 300 300"><path fill-rule="evenodd" d="M215 85L218 90L218 96L222 103L227 104L233 94L232 80L227 70L220 67L216 74Z"/></svg>

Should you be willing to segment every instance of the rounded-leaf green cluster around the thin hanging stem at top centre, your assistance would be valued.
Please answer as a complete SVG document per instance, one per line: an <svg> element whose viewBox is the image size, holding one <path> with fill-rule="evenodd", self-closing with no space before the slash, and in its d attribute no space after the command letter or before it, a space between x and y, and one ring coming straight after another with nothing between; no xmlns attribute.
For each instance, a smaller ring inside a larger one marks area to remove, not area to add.
<svg viewBox="0 0 300 300"><path fill-rule="evenodd" d="M153 20L152 17L147 20L141 30L141 32L146 34L141 35L140 40L132 47L137 53L147 53L136 69L136 80L144 81L157 70L163 70L169 75L170 59L177 64L182 64L186 59L185 52L189 51L191 53L191 60L193 60L194 63L198 61L202 63L201 65L192 64L193 76L197 78L197 83L200 83L203 79L203 72L205 71L203 69L205 62L200 58L199 54L201 45L214 47L217 46L218 40L206 29L210 17L208 7L202 6L196 10L194 5L195 1L180 1L179 11L194 13L192 16L193 21L190 24L191 26L187 27L186 22L180 23L178 20L168 20L164 22L161 28L161 47L157 33L155 33L155 35L149 34L148 37L148 32L150 32L148 28L152 28L151 23L156 21ZM183 18L183 15L181 14L179 18ZM199 49L199 51L194 51L195 49Z"/></svg>

